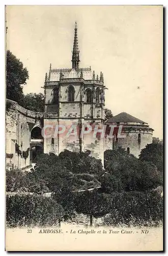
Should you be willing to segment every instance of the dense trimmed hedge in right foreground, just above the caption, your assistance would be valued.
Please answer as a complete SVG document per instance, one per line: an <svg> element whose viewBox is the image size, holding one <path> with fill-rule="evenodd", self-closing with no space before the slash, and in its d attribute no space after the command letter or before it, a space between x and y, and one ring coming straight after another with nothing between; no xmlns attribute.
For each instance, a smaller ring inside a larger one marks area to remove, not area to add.
<svg viewBox="0 0 168 256"><path fill-rule="evenodd" d="M158 226L163 220L163 199L155 191L113 193L108 198L109 226Z"/></svg>

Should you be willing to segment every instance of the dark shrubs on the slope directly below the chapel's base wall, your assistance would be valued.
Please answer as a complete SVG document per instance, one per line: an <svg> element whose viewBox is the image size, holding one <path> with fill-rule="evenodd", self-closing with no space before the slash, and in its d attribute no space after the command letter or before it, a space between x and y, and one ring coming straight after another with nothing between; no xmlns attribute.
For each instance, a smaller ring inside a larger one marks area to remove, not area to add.
<svg viewBox="0 0 168 256"><path fill-rule="evenodd" d="M89 157L86 153L64 151L59 156L40 155L33 175L44 180L50 191L64 187L80 190L100 186L97 175L94 174L98 173L98 170L101 173L102 164L99 160Z"/></svg>

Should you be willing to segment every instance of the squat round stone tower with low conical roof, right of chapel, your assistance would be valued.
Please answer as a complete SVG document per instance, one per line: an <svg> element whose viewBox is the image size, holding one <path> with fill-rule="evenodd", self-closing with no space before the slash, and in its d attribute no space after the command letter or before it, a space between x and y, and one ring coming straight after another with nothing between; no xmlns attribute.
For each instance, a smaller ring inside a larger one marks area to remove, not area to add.
<svg viewBox="0 0 168 256"><path fill-rule="evenodd" d="M115 125L113 145L108 143L108 149L123 147L127 153L133 154L138 158L141 150L147 144L152 143L153 129L144 122L130 114L122 112L111 117L106 122L108 125ZM118 136L119 126L122 127L121 137Z"/></svg>

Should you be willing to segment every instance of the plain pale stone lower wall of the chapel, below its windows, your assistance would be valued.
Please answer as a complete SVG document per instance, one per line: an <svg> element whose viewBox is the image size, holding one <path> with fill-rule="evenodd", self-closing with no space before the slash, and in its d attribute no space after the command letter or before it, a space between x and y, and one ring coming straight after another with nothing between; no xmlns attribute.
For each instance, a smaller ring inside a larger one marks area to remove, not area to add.
<svg viewBox="0 0 168 256"><path fill-rule="evenodd" d="M87 124L92 123L93 120L87 122ZM99 120L99 122L101 121ZM85 124L85 120L81 118L76 119L61 119L61 118L44 118L44 125L53 125L53 128L49 131L49 138L44 139L44 153L52 152L59 155L64 150L69 150L72 152L85 152L86 150L91 151L91 156L104 159L104 138L100 136L93 136L93 132L89 134L84 134L83 137L80 137L79 126L80 124ZM70 131L71 125L75 125L77 134L67 136L67 132ZM65 125L67 130L60 134L59 136L54 136L55 126L56 125ZM77 136L76 136L77 135ZM52 140L53 138L53 140ZM51 141L54 142L51 144Z"/></svg>

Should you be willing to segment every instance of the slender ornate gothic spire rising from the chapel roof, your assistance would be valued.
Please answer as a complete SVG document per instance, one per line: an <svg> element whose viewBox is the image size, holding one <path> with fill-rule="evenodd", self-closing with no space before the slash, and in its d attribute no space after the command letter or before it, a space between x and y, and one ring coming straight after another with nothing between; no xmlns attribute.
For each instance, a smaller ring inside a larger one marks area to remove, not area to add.
<svg viewBox="0 0 168 256"><path fill-rule="evenodd" d="M77 40L77 25L75 22L75 30L74 30L74 42L73 42L73 51L72 51L72 68L79 68L79 50L78 50L78 40Z"/></svg>

